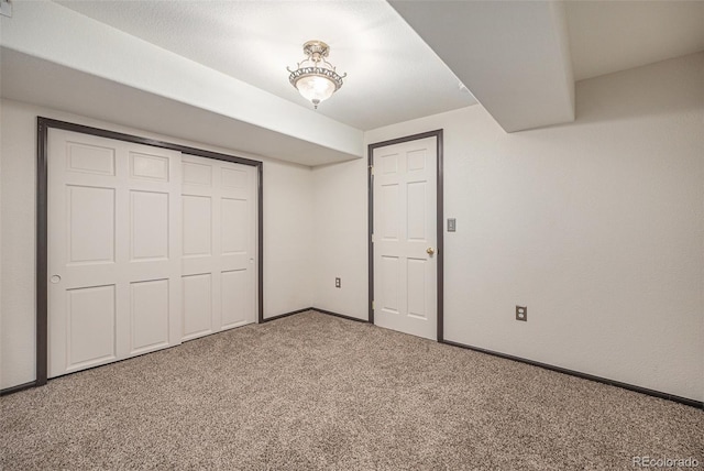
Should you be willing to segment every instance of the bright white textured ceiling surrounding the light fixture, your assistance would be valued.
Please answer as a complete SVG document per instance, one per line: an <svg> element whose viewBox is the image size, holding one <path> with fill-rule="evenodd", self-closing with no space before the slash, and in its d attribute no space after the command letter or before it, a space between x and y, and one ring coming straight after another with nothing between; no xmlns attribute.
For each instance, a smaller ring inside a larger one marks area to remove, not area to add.
<svg viewBox="0 0 704 471"><path fill-rule="evenodd" d="M59 3L304 107L286 67L324 41L348 78L318 111L362 130L476 102L383 0Z"/></svg>

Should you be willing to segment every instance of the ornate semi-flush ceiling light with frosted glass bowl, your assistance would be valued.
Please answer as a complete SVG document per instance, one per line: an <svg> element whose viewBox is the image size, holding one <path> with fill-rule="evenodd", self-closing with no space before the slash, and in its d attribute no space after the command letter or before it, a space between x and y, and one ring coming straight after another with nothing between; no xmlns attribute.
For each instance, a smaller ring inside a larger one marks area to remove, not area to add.
<svg viewBox="0 0 704 471"><path fill-rule="evenodd" d="M299 62L296 70L286 67L290 75L290 85L309 100L316 109L342 87L342 79L348 75L339 75L332 64L326 61L330 46L322 41L308 41L304 44L306 58Z"/></svg>

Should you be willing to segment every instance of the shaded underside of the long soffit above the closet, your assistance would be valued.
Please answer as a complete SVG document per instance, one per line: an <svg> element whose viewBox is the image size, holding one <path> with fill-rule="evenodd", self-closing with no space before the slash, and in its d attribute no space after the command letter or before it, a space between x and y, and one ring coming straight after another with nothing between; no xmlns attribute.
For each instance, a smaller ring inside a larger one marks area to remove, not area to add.
<svg viewBox="0 0 704 471"><path fill-rule="evenodd" d="M275 132L200 106L169 99L6 47L0 47L0 57L3 98L174 136L177 141L199 142L206 147L216 145L223 150L237 150L240 156L267 155L316 166L362 155L361 151L354 152L354 146L339 150L331 147L329 143L322 145L311 142L309 136L305 139ZM74 120L73 116L65 113L53 118ZM98 125L100 127L99 123ZM350 136L360 147L361 134L359 132Z"/></svg>

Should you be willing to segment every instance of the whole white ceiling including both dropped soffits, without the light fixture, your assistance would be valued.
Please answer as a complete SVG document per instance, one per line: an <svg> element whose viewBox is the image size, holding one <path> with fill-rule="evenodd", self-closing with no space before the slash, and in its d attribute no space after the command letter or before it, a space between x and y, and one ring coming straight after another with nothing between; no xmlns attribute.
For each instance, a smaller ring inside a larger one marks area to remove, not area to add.
<svg viewBox="0 0 704 471"><path fill-rule="evenodd" d="M0 92L116 123L152 94L144 129L320 165L362 156L361 130L475 103L457 76L510 132L572 120L574 80L704 51L704 1L389 1L13 0ZM349 74L318 111L286 72L312 39Z"/></svg>

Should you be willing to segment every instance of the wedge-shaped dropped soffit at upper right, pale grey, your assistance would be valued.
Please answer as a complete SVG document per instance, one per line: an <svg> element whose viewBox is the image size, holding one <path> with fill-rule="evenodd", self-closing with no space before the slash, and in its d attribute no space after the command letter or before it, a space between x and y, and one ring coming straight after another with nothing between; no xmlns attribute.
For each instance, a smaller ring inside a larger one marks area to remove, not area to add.
<svg viewBox="0 0 704 471"><path fill-rule="evenodd" d="M574 120L563 3L389 2L505 131Z"/></svg>

